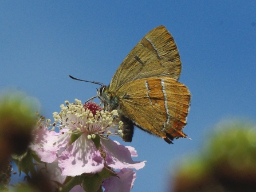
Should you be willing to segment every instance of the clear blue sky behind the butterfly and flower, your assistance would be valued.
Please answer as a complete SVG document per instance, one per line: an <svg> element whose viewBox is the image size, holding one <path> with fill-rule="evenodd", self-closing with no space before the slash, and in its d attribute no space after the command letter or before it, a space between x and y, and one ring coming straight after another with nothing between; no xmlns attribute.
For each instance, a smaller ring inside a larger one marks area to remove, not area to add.
<svg viewBox="0 0 256 192"><path fill-rule="evenodd" d="M136 161L147 160L132 191L164 191L168 174L216 123L255 122L255 10L256 1L1 1L0 90L25 91L52 118L65 100L84 102L99 88L69 74L108 85L133 46L166 26L182 59L180 82L192 94L184 128L192 140L168 145L136 129L124 143L135 147Z"/></svg>

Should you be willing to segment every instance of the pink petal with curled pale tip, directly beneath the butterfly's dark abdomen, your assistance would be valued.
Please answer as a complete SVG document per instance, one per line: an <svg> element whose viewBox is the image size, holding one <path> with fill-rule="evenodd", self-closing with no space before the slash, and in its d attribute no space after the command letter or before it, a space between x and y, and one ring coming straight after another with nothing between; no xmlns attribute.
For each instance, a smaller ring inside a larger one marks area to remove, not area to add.
<svg viewBox="0 0 256 192"><path fill-rule="evenodd" d="M120 143L113 142L111 139L101 139L101 147L107 152L106 163L113 169L141 169L146 161L133 161L131 153L127 147Z"/></svg>

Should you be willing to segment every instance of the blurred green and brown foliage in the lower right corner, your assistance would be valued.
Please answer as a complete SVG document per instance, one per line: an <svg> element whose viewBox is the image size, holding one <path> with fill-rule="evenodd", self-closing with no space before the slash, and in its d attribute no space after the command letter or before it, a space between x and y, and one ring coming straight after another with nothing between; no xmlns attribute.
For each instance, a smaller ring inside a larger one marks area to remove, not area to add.
<svg viewBox="0 0 256 192"><path fill-rule="evenodd" d="M174 191L254 191L256 127L247 122L219 124L203 150L187 157L175 175Z"/></svg>

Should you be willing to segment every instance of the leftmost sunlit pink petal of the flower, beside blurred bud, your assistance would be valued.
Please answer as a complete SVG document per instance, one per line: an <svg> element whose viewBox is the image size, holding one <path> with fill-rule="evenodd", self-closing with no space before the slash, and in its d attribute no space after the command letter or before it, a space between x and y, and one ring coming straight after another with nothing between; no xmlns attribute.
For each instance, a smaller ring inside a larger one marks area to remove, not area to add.
<svg viewBox="0 0 256 192"><path fill-rule="evenodd" d="M38 128L34 131L36 141L30 145L31 150L35 151L41 161L46 163L52 163L56 161L57 153L64 148L69 140L70 134L68 133L56 133L55 131L49 131L45 127Z"/></svg>

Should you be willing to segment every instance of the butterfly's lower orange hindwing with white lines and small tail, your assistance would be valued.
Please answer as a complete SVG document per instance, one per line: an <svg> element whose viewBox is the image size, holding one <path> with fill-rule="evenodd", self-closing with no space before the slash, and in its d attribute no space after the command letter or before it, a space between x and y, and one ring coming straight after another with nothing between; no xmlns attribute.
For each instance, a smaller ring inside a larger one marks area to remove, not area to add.
<svg viewBox="0 0 256 192"><path fill-rule="evenodd" d="M132 91L131 91L132 90ZM144 78L128 82L117 91L120 109L140 129L164 139L186 137L190 92L176 79Z"/></svg>

